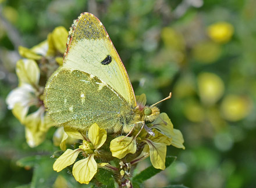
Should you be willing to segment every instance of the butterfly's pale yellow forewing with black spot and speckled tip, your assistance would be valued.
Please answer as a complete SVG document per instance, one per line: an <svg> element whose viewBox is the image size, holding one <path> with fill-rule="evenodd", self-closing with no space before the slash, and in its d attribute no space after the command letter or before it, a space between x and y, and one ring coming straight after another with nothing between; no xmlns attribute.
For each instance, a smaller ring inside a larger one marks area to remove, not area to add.
<svg viewBox="0 0 256 188"><path fill-rule="evenodd" d="M131 107L136 107L125 67L97 17L82 13L74 21L69 35L63 68L95 75L122 95Z"/></svg>

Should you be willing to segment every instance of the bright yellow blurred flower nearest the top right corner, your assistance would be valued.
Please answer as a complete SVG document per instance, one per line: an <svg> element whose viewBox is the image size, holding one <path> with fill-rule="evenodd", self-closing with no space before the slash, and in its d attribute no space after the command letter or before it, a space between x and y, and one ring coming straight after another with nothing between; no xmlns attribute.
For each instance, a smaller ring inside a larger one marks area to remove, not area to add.
<svg viewBox="0 0 256 188"><path fill-rule="evenodd" d="M214 41L218 43L226 43L230 41L234 32L234 27L232 24L227 23L225 21L219 21L217 23L212 24L207 28L208 36Z"/></svg>

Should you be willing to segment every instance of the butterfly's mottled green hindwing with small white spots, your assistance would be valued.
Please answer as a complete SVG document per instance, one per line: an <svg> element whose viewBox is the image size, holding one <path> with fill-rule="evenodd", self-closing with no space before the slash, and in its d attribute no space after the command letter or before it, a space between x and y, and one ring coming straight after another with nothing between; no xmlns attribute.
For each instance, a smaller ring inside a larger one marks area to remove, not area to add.
<svg viewBox="0 0 256 188"><path fill-rule="evenodd" d="M47 107L51 118L60 125L86 129L96 122L107 129L120 121L120 111L131 113L126 100L94 75L61 68L50 83L45 96Z"/></svg>

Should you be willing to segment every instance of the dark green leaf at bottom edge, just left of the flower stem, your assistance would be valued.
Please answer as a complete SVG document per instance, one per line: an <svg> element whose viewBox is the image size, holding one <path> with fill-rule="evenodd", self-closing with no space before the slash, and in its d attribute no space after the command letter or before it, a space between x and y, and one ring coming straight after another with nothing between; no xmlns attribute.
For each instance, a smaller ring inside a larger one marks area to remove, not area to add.
<svg viewBox="0 0 256 188"><path fill-rule="evenodd" d="M98 169L98 172L96 173L95 178L106 187L115 187L113 173L111 173L110 171L104 168Z"/></svg>

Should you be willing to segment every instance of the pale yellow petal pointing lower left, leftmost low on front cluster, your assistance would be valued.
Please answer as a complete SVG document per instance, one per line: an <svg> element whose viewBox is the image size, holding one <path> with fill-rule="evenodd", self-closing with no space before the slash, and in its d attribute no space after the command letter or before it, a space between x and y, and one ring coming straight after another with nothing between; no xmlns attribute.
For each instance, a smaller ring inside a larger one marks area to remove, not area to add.
<svg viewBox="0 0 256 188"><path fill-rule="evenodd" d="M76 161L76 158L78 154L82 150L76 149L76 150L70 150L67 149L57 160L54 162L54 170L59 172L62 171L62 169L66 168L69 165L72 165L74 161Z"/></svg>

